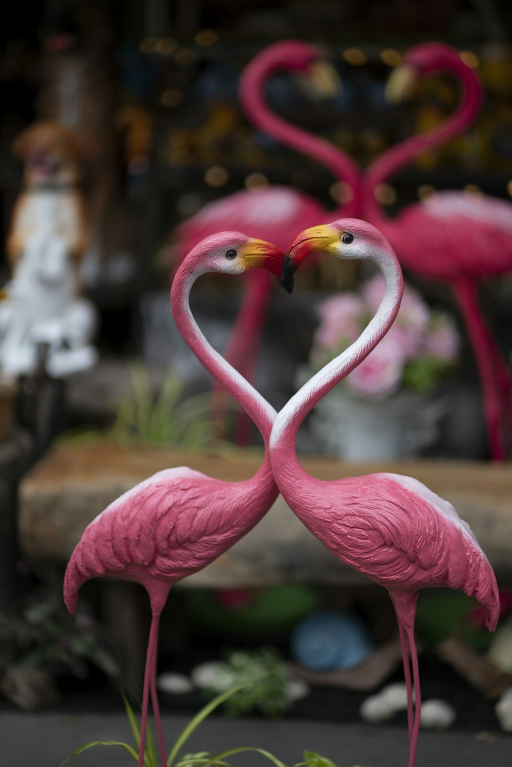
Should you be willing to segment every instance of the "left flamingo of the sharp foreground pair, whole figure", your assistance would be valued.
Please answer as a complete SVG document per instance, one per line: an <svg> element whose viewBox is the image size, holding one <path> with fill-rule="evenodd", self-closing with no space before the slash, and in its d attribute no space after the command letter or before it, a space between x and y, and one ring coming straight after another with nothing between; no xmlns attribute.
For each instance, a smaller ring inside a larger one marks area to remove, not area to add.
<svg viewBox="0 0 512 767"><path fill-rule="evenodd" d="M185 466L164 469L121 495L98 515L73 551L64 576L64 601L73 613L78 589L97 576L126 578L146 588L151 626L140 731L143 765L149 693L162 765L166 757L155 684L160 613L171 586L208 565L259 522L276 500L268 441L276 411L208 344L189 308L194 281L206 272L241 275L253 267L281 275L282 252L239 232L221 232L200 242L173 280L171 303L177 328L213 377L243 407L263 436L266 455L251 479L221 482ZM291 286L289 286L291 287Z"/></svg>

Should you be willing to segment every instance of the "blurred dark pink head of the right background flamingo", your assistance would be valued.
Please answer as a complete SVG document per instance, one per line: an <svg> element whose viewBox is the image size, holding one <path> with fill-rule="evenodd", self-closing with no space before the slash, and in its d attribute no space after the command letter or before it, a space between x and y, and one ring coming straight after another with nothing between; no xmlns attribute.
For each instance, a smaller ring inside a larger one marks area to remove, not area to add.
<svg viewBox="0 0 512 767"><path fill-rule="evenodd" d="M460 71L461 67L469 69L458 52L449 45L438 42L415 45L407 51L400 66L391 72L385 87L385 97L391 104L397 104L411 95L422 75L441 69Z"/></svg>

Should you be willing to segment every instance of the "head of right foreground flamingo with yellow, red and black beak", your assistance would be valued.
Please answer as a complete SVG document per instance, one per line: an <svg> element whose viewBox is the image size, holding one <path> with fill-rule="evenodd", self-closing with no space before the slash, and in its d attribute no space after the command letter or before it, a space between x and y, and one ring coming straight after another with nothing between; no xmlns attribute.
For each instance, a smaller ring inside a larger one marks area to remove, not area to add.
<svg viewBox="0 0 512 767"><path fill-rule="evenodd" d="M283 259L282 280L292 278L309 255L329 253L335 258L358 258L379 262L395 252L375 226L361 219L338 219L331 224L304 229L290 243Z"/></svg>

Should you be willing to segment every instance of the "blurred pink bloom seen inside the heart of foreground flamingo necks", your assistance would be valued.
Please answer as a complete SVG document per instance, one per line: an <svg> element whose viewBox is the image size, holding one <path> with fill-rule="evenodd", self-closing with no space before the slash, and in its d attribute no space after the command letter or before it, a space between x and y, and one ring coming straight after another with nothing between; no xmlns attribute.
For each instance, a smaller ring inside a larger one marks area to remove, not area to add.
<svg viewBox="0 0 512 767"><path fill-rule="evenodd" d="M355 341L363 329L365 304L356 293L340 293L326 298L318 312L320 324L315 331L315 346L339 351L340 347Z"/></svg>

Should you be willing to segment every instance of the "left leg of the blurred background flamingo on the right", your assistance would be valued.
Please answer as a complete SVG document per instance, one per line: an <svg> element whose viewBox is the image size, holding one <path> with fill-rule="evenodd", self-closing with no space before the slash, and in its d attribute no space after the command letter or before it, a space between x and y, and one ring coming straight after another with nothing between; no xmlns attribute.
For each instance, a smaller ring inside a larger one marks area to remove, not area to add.
<svg viewBox="0 0 512 767"><path fill-rule="evenodd" d="M491 458L495 461L504 461L505 450L500 423L503 413L500 390L495 380L494 353L488 342L489 331L487 331L481 318L474 285L469 282L457 282L454 285L454 294L461 308L477 360L484 397L484 413Z"/></svg>

